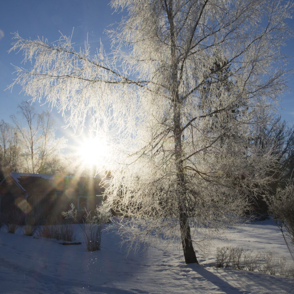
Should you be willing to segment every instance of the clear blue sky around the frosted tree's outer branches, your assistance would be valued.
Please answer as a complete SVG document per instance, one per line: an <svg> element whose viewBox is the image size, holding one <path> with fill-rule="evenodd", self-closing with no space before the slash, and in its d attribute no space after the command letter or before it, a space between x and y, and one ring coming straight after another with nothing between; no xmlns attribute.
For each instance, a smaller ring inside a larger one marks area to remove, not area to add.
<svg viewBox="0 0 294 294"><path fill-rule="evenodd" d="M30 97L19 94L20 87L16 86L12 93L4 89L12 82L15 77L12 64L19 65L22 56L10 54L7 51L11 47L10 33L18 31L23 38L36 39L37 36L46 37L49 42L53 42L60 37L59 31L63 34L70 35L74 27L73 40L76 46L83 46L87 38L92 48L95 50L99 47L100 39L104 44L104 49L109 47L109 39L103 31L108 25L119 21L121 14L112 14L112 9L108 5L108 0L6 0L0 4L0 120L4 119L10 122L9 116L16 114L17 105L22 100L29 100ZM293 28L294 20L289 20L289 25ZM282 48L282 52L288 55L294 55L294 38L288 41L287 46ZM294 58L291 57L288 68L294 67ZM294 90L294 77L291 76L289 87ZM294 103L293 94L289 93L281 97L280 105L282 119L294 121ZM40 106L35 104L38 111L49 109L47 105ZM59 126L65 123L61 114L53 110L54 118ZM59 128L59 136L68 136L68 130ZM72 133L72 132L71 132Z"/></svg>

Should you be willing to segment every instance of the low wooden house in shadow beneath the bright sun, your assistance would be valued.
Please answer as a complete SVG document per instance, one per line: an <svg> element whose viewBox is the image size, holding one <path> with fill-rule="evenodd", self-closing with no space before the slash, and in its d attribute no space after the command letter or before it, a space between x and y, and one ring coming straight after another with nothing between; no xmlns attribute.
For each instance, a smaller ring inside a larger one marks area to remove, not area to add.
<svg viewBox="0 0 294 294"><path fill-rule="evenodd" d="M9 173L0 181L0 213L22 211L36 222L48 217L61 220L73 203L82 216L103 201L101 178Z"/></svg>

